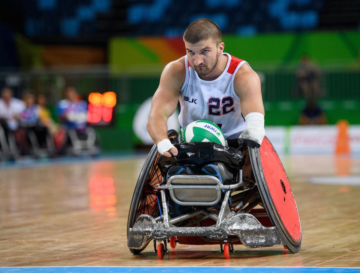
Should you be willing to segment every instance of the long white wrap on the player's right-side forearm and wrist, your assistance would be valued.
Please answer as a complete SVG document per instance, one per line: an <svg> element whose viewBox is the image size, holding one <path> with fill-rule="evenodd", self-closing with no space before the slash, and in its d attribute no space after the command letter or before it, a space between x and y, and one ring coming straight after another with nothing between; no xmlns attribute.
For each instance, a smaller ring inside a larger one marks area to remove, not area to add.
<svg viewBox="0 0 360 273"><path fill-rule="evenodd" d="M258 112L251 112L245 116L246 127L239 135L239 138L250 139L256 143L262 143L265 136L264 115Z"/></svg>

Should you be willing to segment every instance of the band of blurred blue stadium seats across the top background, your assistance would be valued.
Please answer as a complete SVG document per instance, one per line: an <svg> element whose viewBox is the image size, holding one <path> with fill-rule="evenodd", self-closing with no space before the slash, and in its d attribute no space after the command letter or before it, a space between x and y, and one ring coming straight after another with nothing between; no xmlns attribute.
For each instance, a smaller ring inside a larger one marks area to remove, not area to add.
<svg viewBox="0 0 360 273"><path fill-rule="evenodd" d="M256 4L255 4L256 3ZM181 36L195 19L215 21L223 33L312 30L325 0L27 0L24 31L30 37L75 37L96 31L117 32L132 26L132 35ZM105 22L98 27L98 14ZM124 15L119 15L119 14ZM123 16L123 17L122 17Z"/></svg>

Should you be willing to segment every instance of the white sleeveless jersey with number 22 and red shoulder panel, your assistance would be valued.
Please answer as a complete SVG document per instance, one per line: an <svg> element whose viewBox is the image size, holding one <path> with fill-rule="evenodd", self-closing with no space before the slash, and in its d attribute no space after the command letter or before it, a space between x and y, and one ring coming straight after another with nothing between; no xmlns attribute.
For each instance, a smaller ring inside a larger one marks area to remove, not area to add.
<svg viewBox="0 0 360 273"><path fill-rule="evenodd" d="M186 76L179 97L179 123L181 130L195 120L208 120L218 124L225 138L234 139L245 129L240 99L234 91L234 77L246 61L228 53L224 72L215 80L200 79L185 55Z"/></svg>

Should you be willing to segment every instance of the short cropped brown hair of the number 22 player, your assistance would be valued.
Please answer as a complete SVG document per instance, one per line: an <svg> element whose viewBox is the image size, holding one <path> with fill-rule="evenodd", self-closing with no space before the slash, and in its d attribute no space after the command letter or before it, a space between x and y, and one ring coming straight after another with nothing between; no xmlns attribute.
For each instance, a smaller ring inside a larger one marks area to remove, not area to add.
<svg viewBox="0 0 360 273"><path fill-rule="evenodd" d="M189 24L184 32L184 41L190 44L197 44L200 41L212 38L216 45L222 42L220 27L206 18L197 19Z"/></svg>

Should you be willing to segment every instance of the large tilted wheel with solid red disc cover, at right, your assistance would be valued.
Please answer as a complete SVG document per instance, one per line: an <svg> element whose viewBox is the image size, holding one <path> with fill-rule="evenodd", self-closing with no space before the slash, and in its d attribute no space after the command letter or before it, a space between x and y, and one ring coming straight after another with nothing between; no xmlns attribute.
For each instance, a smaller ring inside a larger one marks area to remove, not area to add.
<svg viewBox="0 0 360 273"><path fill-rule="evenodd" d="M301 247L301 224L284 166L266 136L260 148L249 148L249 156L266 212L284 245L296 253Z"/></svg>

